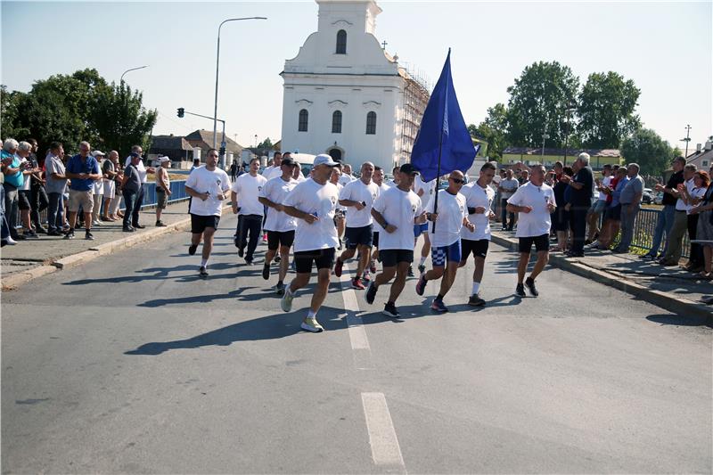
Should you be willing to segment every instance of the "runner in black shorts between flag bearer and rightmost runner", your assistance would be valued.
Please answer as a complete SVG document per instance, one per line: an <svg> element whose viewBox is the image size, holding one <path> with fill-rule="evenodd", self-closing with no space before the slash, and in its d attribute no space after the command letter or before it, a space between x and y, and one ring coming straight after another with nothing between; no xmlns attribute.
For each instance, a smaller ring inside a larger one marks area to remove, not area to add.
<svg viewBox="0 0 713 475"><path fill-rule="evenodd" d="M496 175L496 166L486 162L480 167L480 175L475 182L466 184L461 188L468 207L468 220L475 225L472 231L466 227L461 229L461 263L463 267L468 262L468 257L473 255L475 270L473 271L473 287L468 305L471 307L485 306L485 300L479 297L480 283L483 280L485 258L488 256L490 244L490 218L495 217L493 204L496 192L490 184Z"/></svg>

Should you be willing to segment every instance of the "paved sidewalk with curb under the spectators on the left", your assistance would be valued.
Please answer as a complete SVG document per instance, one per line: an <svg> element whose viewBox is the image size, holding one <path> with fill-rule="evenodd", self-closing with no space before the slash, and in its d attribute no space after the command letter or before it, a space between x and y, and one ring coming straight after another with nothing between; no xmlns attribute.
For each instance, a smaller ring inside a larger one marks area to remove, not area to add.
<svg viewBox="0 0 713 475"><path fill-rule="evenodd" d="M146 226L145 229L137 229L134 233L124 233L121 230L121 221L102 221L102 225L92 228L94 241L86 241L84 229L78 229L77 237L72 240L39 234L39 239L5 246L0 250L3 289L15 287L39 275L50 274L114 250L133 246L138 242L154 239L161 234L188 229L188 201L169 204L161 214L161 221L167 226L154 226L156 210L150 208L141 212L140 222Z"/></svg>

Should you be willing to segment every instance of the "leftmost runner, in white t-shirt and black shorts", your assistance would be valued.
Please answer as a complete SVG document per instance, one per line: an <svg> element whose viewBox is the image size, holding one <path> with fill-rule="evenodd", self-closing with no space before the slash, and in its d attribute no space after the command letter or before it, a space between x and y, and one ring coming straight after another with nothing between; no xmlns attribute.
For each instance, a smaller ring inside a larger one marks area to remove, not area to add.
<svg viewBox="0 0 713 475"><path fill-rule="evenodd" d="M191 195L191 246L188 254L193 256L203 239L201 277L208 277L208 259L213 250L213 235L216 233L223 212L223 201L230 190L230 177L217 168L217 150L209 149L206 164L195 168L185 181L185 192Z"/></svg>

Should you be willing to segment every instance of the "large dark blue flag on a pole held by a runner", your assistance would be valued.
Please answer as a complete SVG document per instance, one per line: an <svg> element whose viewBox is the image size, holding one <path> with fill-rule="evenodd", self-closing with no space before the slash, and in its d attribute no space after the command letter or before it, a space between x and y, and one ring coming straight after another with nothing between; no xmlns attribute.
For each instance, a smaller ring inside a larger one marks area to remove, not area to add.
<svg viewBox="0 0 713 475"><path fill-rule="evenodd" d="M455 97L449 48L446 64L423 112L411 163L421 172L423 181L429 182L454 170L465 173L471 168L476 152Z"/></svg>

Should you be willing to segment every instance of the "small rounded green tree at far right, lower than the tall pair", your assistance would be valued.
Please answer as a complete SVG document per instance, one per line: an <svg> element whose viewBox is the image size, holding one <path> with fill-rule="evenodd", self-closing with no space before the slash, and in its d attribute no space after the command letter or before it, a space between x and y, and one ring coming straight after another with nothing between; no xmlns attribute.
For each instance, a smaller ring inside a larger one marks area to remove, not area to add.
<svg viewBox="0 0 713 475"><path fill-rule="evenodd" d="M621 155L627 163L638 163L643 175L661 175L674 151L651 128L640 128L621 143Z"/></svg>

